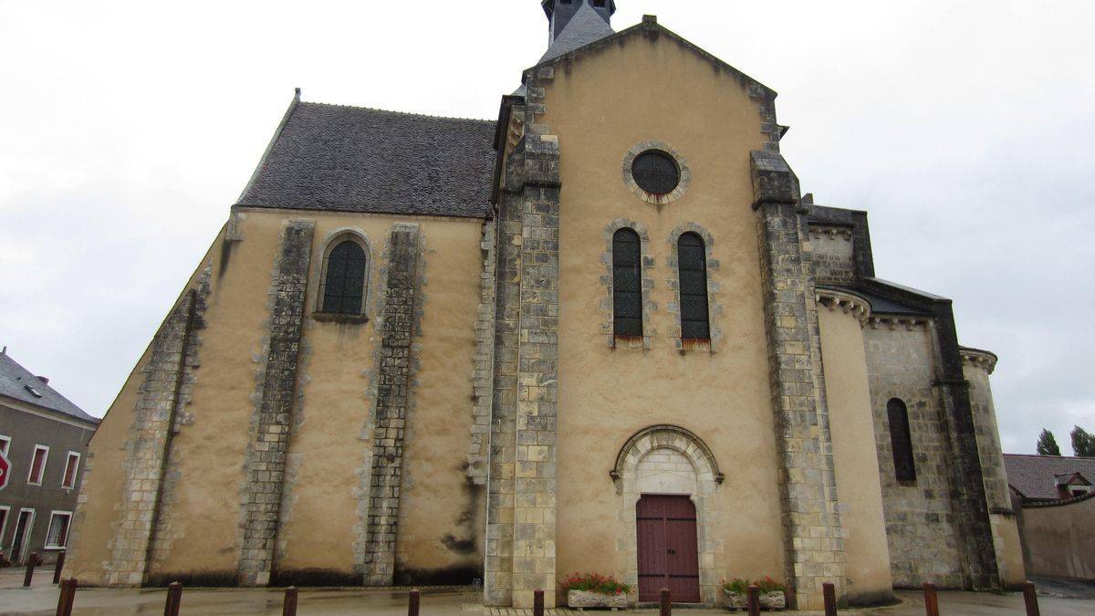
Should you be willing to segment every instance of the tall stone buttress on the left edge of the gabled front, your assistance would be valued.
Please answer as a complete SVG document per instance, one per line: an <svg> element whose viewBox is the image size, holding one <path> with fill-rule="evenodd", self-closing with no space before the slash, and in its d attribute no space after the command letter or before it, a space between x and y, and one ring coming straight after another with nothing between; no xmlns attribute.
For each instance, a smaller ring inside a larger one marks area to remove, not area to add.
<svg viewBox="0 0 1095 616"><path fill-rule="evenodd" d="M553 77L550 67L526 73L528 118L499 207L484 598L518 608L537 589L549 591L546 607L555 601L560 148L535 123Z"/></svg>

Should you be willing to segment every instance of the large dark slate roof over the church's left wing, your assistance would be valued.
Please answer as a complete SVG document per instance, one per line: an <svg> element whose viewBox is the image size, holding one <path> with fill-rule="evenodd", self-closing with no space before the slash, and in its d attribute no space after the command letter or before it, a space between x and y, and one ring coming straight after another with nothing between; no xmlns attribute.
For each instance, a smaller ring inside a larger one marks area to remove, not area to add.
<svg viewBox="0 0 1095 616"><path fill-rule="evenodd" d="M487 218L494 129L295 101L237 205Z"/></svg>

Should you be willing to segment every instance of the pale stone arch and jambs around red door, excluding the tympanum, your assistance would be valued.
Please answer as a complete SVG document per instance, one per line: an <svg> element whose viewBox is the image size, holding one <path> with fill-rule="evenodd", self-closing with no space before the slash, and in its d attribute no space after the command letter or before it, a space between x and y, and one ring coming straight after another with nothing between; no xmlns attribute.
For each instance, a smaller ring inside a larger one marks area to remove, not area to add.
<svg viewBox="0 0 1095 616"><path fill-rule="evenodd" d="M630 600L637 601L638 529L635 507L643 495L638 491L637 469L643 458L659 449L671 449L683 455L695 471L695 493L687 495L695 505L696 513L700 596L704 603L716 604L721 600L722 582L726 574L716 566L717 555L723 552L723 540L717 538L716 524L721 514L714 509L711 495L723 482L723 474L707 445L692 432L676 425L653 425L629 438L616 456L616 465L610 474L620 497L616 556L618 562L623 564L623 582L631 584L633 589Z"/></svg>

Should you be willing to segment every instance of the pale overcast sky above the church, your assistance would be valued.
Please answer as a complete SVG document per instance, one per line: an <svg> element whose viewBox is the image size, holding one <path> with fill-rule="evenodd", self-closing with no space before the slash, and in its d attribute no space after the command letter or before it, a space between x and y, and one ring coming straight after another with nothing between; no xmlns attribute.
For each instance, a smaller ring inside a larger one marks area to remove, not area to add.
<svg viewBox="0 0 1095 616"><path fill-rule="evenodd" d="M616 0L780 92L817 203L1000 355L1004 449L1095 431L1095 2ZM539 0L0 0L0 344L105 412L293 87L494 118Z"/></svg>

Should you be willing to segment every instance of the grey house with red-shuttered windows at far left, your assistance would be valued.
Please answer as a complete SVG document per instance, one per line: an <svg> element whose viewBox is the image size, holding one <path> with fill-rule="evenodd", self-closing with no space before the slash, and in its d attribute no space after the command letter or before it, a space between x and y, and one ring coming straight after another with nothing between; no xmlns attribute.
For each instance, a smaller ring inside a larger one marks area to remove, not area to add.
<svg viewBox="0 0 1095 616"><path fill-rule="evenodd" d="M53 562L66 548L99 420L0 352L0 452L11 463L0 491L0 552L23 564L32 552Z"/></svg>

